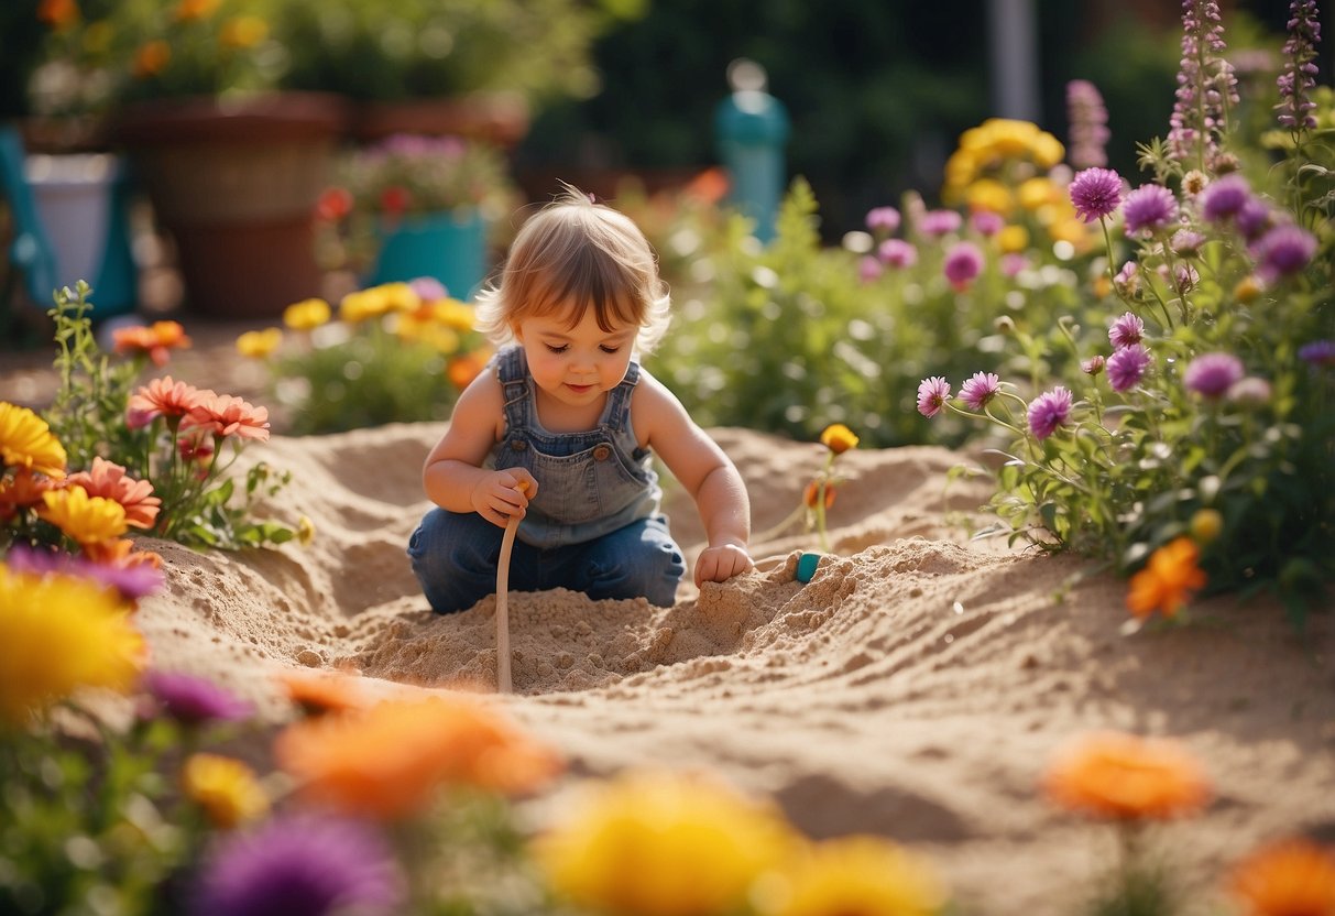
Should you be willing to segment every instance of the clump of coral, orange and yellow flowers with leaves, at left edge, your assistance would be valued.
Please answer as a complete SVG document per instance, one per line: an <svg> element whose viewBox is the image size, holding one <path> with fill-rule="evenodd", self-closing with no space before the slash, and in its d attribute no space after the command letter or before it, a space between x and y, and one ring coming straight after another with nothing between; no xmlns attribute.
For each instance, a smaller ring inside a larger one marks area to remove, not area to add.
<svg viewBox="0 0 1335 916"><path fill-rule="evenodd" d="M81 280L75 291L65 287L49 312L60 387L45 418L32 415L28 425L49 427L60 462L43 469L7 458L3 543L132 563L136 554L121 539L128 527L192 547L288 541L287 526L254 519L256 503L288 475L264 462L239 481L230 473L248 441L268 438L267 411L170 375L135 389L151 359L163 365L170 349L190 340L175 322L123 328L117 353L128 358L113 359L92 332L89 292Z"/></svg>

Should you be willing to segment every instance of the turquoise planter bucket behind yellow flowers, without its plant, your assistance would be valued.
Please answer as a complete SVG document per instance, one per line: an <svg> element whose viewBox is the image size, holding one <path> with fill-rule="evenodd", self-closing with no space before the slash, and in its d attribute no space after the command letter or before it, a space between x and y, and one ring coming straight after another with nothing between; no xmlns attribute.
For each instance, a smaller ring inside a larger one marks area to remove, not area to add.
<svg viewBox="0 0 1335 916"><path fill-rule="evenodd" d="M403 216L379 236L368 286L434 276L455 299L469 299L486 279L487 226L477 210Z"/></svg>

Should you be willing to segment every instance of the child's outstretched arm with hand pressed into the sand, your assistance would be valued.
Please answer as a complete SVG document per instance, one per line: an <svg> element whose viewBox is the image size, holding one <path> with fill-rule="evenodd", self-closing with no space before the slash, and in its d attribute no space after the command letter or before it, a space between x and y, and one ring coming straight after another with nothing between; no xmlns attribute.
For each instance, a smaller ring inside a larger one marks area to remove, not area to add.
<svg viewBox="0 0 1335 916"><path fill-rule="evenodd" d="M705 523L709 546L696 561L696 585L722 582L750 569L750 499L741 474L718 443L647 373L641 374L635 389L631 423L696 501Z"/></svg>

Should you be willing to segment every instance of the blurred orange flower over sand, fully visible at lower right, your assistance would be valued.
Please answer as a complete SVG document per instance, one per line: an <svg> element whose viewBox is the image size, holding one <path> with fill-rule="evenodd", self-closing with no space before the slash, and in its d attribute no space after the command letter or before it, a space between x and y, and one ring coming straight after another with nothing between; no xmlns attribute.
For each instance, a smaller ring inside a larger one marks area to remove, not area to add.
<svg viewBox="0 0 1335 916"><path fill-rule="evenodd" d="M1112 820L1193 813L1211 794L1200 764L1184 746L1123 732L1072 741L1049 765L1044 789L1063 808Z"/></svg>

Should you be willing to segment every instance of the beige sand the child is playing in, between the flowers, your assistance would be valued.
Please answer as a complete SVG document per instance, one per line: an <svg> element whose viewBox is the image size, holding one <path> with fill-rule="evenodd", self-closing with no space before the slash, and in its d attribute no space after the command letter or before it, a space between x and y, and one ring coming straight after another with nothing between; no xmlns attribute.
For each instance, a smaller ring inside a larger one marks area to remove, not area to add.
<svg viewBox="0 0 1335 916"><path fill-rule="evenodd" d="M439 423L275 437L247 453L294 474L271 517L316 538L248 553L150 541L168 588L143 602L158 668L192 670L278 716L272 673L355 669L368 684L493 692L495 601L433 616L405 543L427 509ZM821 446L710 430L750 489L757 530L797 505ZM968 457L858 449L832 550L794 581L801 529L754 543L766 571L684 586L673 608L511 594L515 693L494 702L558 748L570 778L641 764L706 768L769 793L813 837L870 832L928 855L969 913L1072 912L1111 833L1039 780L1096 728L1172 736L1215 801L1156 836L1204 908L1227 867L1296 832L1335 837L1332 616L1302 637L1271 604L1203 602L1187 626L1124 633L1125 584L1076 558L971 542L988 495L947 483ZM668 494L690 558L701 527Z"/></svg>

